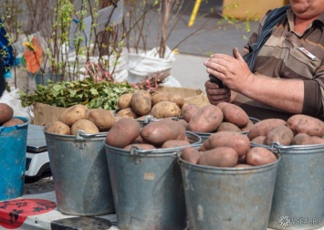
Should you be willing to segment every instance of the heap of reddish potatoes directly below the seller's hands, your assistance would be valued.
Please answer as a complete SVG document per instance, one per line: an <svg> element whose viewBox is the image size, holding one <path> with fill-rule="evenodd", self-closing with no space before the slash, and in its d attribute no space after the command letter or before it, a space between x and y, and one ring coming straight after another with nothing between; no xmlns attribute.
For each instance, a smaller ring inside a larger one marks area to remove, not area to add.
<svg viewBox="0 0 324 230"><path fill-rule="evenodd" d="M187 130L194 132L249 131L254 122L239 106L221 102L217 106L186 104L182 108L183 120L188 123Z"/></svg>

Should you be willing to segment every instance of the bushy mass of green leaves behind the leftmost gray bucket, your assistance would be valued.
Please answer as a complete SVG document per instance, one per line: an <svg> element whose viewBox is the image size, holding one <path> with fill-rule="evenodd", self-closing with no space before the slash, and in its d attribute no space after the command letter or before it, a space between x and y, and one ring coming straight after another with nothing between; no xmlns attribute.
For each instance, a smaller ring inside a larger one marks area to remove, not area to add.
<svg viewBox="0 0 324 230"><path fill-rule="evenodd" d="M34 94L20 92L20 99L24 107L39 102L64 108L83 104L89 109L117 110L120 96L135 90L128 82L95 82L92 78L57 83L48 80L48 86L37 85Z"/></svg>

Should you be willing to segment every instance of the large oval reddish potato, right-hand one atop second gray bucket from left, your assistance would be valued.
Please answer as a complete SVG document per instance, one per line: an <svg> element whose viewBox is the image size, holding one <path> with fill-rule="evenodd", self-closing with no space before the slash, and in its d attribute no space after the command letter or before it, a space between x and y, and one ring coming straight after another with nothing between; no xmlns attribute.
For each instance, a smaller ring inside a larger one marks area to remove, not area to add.
<svg viewBox="0 0 324 230"><path fill-rule="evenodd" d="M168 140L184 140L185 129L176 120L156 120L141 128L141 138L147 143L160 147Z"/></svg>

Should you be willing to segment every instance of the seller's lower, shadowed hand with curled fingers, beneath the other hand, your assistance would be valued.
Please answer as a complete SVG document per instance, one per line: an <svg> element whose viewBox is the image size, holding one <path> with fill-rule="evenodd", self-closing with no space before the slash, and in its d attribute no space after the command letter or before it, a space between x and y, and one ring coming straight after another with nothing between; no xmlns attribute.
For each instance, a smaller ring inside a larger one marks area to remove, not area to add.
<svg viewBox="0 0 324 230"><path fill-rule="evenodd" d="M232 102L231 89L225 88L219 89L216 83L207 80L204 83L207 98L212 105L217 105L219 102Z"/></svg>

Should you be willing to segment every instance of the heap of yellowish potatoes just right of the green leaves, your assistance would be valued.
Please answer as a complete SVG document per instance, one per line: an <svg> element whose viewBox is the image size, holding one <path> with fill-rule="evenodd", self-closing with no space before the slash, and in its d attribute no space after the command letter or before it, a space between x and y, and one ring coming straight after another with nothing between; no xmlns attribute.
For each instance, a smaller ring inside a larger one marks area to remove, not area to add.
<svg viewBox="0 0 324 230"><path fill-rule="evenodd" d="M141 89L134 93L120 96L117 106L117 116L140 119L152 115L155 119L180 117L184 98L171 92L155 92L151 94Z"/></svg>

